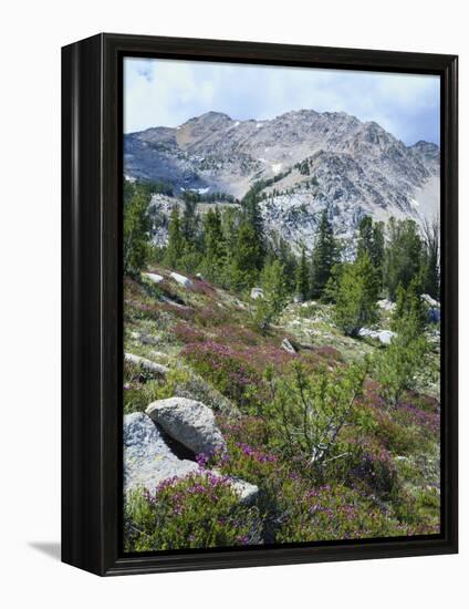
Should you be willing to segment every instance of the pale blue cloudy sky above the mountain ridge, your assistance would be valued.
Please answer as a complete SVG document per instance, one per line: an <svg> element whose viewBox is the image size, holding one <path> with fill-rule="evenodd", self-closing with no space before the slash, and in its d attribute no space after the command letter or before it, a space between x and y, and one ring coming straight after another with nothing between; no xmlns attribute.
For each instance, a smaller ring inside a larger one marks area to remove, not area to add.
<svg viewBox="0 0 469 609"><path fill-rule="evenodd" d="M439 78L159 59L124 61L124 131L175 127L215 110L265 120L290 110L344 111L405 144L439 144Z"/></svg>

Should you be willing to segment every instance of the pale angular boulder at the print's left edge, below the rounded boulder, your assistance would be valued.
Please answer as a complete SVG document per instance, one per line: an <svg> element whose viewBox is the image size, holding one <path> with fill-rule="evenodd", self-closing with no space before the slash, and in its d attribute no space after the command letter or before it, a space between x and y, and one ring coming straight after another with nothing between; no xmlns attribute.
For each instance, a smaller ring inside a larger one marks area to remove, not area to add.
<svg viewBox="0 0 469 609"><path fill-rule="evenodd" d="M194 461L178 458L163 438L161 432L144 412L124 415L124 491L154 491L173 476L198 472Z"/></svg>

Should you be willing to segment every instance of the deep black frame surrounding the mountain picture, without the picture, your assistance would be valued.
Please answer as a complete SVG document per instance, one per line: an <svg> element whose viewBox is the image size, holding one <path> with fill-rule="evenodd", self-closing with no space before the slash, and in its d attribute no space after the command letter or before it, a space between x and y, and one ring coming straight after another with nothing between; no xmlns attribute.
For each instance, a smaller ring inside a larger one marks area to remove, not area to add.
<svg viewBox="0 0 469 609"><path fill-rule="evenodd" d="M441 534L125 556L122 526L122 58L441 78ZM101 576L458 551L458 101L455 55L98 34L62 49L62 560Z"/></svg>

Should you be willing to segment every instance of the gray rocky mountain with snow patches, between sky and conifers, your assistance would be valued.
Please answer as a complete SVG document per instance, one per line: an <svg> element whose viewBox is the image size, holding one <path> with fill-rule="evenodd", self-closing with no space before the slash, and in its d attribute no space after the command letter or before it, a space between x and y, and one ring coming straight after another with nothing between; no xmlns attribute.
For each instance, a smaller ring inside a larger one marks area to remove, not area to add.
<svg viewBox="0 0 469 609"><path fill-rule="evenodd" d="M170 182L176 196L195 189L241 198L262 180L267 227L306 246L324 208L344 237L364 215L423 221L439 208L438 146L406 146L343 112L302 110L271 121L209 112L176 128L125 135L124 153L127 177Z"/></svg>

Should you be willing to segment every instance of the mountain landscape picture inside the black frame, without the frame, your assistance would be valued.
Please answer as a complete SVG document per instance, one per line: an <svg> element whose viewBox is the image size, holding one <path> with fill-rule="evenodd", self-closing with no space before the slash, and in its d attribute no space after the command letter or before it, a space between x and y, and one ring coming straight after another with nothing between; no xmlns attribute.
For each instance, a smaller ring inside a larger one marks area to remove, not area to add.
<svg viewBox="0 0 469 609"><path fill-rule="evenodd" d="M440 533L439 99L125 59L125 551Z"/></svg>

